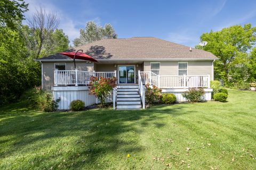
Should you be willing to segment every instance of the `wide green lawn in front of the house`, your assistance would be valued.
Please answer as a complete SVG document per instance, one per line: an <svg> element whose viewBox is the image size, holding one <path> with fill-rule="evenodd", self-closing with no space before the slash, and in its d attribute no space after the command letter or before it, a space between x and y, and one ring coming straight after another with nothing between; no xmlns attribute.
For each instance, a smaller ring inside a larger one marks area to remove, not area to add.
<svg viewBox="0 0 256 170"><path fill-rule="evenodd" d="M229 90L227 103L143 111L10 104L0 108L0 169L254 169L255 98Z"/></svg>

